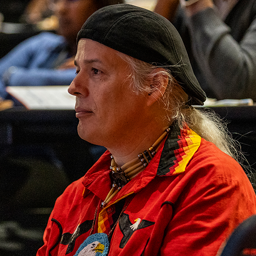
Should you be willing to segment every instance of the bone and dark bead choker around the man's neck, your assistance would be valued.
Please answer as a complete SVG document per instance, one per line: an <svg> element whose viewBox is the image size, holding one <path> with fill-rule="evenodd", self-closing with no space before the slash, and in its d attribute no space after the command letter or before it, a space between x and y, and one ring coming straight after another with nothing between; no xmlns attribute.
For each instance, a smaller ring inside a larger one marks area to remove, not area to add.
<svg viewBox="0 0 256 256"><path fill-rule="evenodd" d="M106 207L108 202L120 191L120 189L136 175L141 173L155 156L155 153L159 149L159 146L166 135L169 133L170 128L167 128L164 133L155 141L155 143L144 152L139 154L135 159L125 163L124 165L117 166L113 155L111 155L111 166L112 171L112 188L108 192L106 199L101 203L101 208Z"/></svg>

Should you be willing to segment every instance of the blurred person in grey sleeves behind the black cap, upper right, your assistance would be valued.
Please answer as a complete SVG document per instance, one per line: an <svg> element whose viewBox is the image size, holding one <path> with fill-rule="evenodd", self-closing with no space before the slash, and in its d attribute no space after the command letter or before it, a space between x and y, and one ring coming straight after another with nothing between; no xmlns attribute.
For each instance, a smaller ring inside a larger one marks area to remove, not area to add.
<svg viewBox="0 0 256 256"><path fill-rule="evenodd" d="M208 97L256 101L256 0L158 0L155 12L181 34Z"/></svg>

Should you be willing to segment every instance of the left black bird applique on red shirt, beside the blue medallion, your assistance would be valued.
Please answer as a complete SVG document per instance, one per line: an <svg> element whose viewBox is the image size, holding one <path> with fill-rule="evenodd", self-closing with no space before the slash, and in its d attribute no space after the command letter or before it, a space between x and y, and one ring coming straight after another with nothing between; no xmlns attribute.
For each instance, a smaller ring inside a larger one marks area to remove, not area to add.
<svg viewBox="0 0 256 256"><path fill-rule="evenodd" d="M74 250L76 238L88 232L91 229L92 225L93 225L93 220L85 221L77 226L73 234L67 232L62 235L61 244L64 244L64 245L68 244L66 254Z"/></svg>

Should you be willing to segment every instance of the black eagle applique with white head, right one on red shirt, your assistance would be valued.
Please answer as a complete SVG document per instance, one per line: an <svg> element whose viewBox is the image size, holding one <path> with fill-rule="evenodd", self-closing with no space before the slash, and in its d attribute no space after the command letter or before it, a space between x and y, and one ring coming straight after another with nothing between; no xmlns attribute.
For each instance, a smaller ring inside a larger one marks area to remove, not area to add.
<svg viewBox="0 0 256 256"><path fill-rule="evenodd" d="M128 240L136 230L144 229L154 224L155 222L150 222L150 221L141 220L141 219L137 219L135 224L132 224L128 214L123 213L121 216L121 219L119 220L119 227L123 234L123 238L121 240L119 247L124 248Z"/></svg>

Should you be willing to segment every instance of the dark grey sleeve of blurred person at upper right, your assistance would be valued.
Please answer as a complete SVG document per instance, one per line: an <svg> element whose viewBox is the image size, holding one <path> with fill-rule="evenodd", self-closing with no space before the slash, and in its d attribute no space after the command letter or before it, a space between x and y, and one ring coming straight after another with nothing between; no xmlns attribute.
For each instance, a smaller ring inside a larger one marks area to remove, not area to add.
<svg viewBox="0 0 256 256"><path fill-rule="evenodd" d="M187 25L195 61L217 98L256 100L256 18L240 42L212 8L188 18Z"/></svg>

